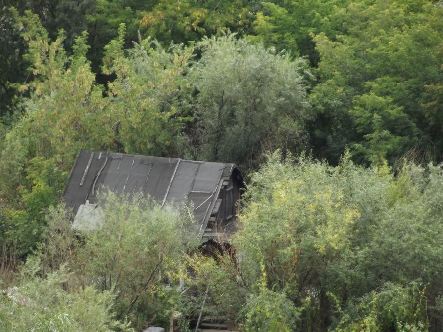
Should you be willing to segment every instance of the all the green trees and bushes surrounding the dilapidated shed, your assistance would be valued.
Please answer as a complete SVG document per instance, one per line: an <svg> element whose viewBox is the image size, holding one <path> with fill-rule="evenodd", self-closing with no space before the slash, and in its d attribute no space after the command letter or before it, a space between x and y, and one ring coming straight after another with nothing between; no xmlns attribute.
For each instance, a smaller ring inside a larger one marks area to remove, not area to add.
<svg viewBox="0 0 443 332"><path fill-rule="evenodd" d="M245 331L443 329L441 1L0 7L1 329L186 330L203 299ZM142 198L79 238L79 149L239 165L242 263Z"/></svg>

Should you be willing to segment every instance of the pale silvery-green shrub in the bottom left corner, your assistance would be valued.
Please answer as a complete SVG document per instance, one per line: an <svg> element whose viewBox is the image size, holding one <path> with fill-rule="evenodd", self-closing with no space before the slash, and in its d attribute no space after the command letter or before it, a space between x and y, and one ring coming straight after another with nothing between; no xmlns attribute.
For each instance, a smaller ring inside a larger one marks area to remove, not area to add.
<svg viewBox="0 0 443 332"><path fill-rule="evenodd" d="M42 278L39 263L36 257L29 258L17 282L1 290L2 331L134 331L113 317L112 291L98 292L90 286L66 291L63 285L70 278L66 268Z"/></svg>

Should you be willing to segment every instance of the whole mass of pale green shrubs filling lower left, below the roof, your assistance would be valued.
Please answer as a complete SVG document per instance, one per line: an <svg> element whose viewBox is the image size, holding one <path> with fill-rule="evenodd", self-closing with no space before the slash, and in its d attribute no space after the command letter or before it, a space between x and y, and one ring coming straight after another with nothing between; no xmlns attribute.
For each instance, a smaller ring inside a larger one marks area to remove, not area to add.
<svg viewBox="0 0 443 332"><path fill-rule="evenodd" d="M49 209L38 249L11 286L1 285L5 331L133 331L169 323L186 254L201 242L195 220L140 196L102 198L95 231L72 229L62 205Z"/></svg>

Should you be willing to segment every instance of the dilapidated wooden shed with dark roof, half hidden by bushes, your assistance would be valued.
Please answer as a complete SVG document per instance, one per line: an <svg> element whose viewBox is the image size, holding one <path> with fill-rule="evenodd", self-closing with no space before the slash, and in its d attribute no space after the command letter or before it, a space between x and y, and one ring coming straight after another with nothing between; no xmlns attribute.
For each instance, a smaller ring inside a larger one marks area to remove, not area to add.
<svg viewBox="0 0 443 332"><path fill-rule="evenodd" d="M80 150L63 199L74 227L97 227L100 189L149 195L164 205L191 203L204 240L226 241L236 229L243 179L234 164ZM80 225L83 225L80 227Z"/></svg>

